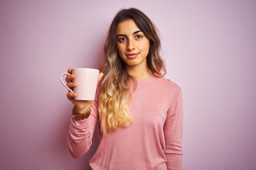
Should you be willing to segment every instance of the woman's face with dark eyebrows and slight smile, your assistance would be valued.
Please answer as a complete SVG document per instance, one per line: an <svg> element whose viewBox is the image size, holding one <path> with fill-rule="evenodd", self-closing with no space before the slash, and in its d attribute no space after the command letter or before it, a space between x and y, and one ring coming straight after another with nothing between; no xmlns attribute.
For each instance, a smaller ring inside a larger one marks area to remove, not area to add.
<svg viewBox="0 0 256 170"><path fill-rule="evenodd" d="M146 56L149 54L149 38L138 28L132 19L117 25L117 49L126 67L147 68Z"/></svg>

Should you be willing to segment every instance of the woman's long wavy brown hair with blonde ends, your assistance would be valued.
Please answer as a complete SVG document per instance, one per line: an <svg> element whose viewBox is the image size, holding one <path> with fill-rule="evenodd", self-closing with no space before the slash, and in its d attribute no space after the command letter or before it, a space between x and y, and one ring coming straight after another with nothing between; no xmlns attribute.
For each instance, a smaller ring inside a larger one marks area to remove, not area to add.
<svg viewBox="0 0 256 170"><path fill-rule="evenodd" d="M150 48L146 62L151 73L157 77L163 77L166 74L164 61L159 55L161 42L154 24L137 8L119 11L107 33L104 45L105 55L100 66L100 72L104 73L99 94L100 127L103 135L116 130L118 126L127 127L132 124L128 100L137 87L137 81L127 73L125 63L119 57L116 38L118 23L127 19L132 19L149 38ZM128 79L132 79L134 86L129 86Z"/></svg>

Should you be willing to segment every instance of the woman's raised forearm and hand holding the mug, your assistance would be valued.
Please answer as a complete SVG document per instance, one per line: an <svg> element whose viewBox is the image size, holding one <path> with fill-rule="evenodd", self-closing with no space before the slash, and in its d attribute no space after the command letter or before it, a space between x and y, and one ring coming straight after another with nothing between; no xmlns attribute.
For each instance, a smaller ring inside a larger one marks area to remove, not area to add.
<svg viewBox="0 0 256 170"><path fill-rule="evenodd" d="M72 69L68 68L68 75L66 77L67 86L71 88L75 88L78 84L73 83L73 79L75 79L75 75L72 74ZM103 74L100 73L98 77L98 83L100 79L102 79ZM74 158L79 158L83 154L85 154L92 145L92 135L95 130L95 125L97 123L98 116L98 88L95 95L94 101L75 101L74 97L75 93L68 92L67 97L76 108L78 113L86 113L91 109L91 113L89 118L84 120L75 120L71 119L70 129L68 131L68 148L70 150L70 154Z"/></svg>

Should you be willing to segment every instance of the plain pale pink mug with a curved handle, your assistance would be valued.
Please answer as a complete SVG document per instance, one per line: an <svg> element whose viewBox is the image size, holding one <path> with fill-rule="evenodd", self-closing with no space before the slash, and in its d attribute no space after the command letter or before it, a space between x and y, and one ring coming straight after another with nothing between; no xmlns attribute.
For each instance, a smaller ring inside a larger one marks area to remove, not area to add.
<svg viewBox="0 0 256 170"><path fill-rule="evenodd" d="M73 90L68 88L68 86L63 82L63 75L69 75L69 73L63 73L60 76L61 83L71 92L75 92L76 101L93 101L95 99L95 93L97 89L97 79L99 77L98 69L88 69L88 68L75 68L72 69L72 74L75 74L75 79L73 82L77 84Z"/></svg>

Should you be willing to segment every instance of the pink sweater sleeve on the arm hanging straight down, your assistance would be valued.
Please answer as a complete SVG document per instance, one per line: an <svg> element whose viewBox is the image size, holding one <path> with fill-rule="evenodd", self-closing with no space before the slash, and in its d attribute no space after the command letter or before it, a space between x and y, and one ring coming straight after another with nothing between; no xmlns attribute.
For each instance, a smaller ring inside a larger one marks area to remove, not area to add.
<svg viewBox="0 0 256 170"><path fill-rule="evenodd" d="M164 125L164 137L166 141L166 159L168 170L182 169L182 133L183 133L183 100L179 89L171 107L167 113Z"/></svg>

